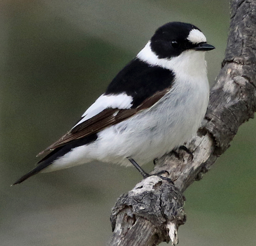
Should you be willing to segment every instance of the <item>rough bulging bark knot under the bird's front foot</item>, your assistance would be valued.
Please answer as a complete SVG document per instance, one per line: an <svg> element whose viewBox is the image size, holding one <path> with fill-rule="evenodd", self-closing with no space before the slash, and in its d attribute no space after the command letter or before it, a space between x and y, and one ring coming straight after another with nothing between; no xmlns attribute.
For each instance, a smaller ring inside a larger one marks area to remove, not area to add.
<svg viewBox="0 0 256 246"><path fill-rule="evenodd" d="M146 234L153 242L147 245L170 240L172 245L175 245L178 243L177 229L186 221L184 200L184 196L175 185L161 177L150 176L118 198L110 218L112 230L120 237L127 237L127 234L130 234L128 237L134 242L131 244L129 241L128 245L142 245L136 244L134 237L138 236L136 227L139 224L141 226L141 220L144 220L147 222L144 230L140 230L140 236L141 233L150 231L150 234ZM138 221L140 223L137 223Z"/></svg>

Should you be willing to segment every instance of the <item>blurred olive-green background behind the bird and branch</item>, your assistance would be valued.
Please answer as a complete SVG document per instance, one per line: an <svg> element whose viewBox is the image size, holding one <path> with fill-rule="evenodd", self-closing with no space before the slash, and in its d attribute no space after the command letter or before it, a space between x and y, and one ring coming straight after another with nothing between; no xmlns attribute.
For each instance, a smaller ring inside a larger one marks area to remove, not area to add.
<svg viewBox="0 0 256 246"><path fill-rule="evenodd" d="M116 198L141 180L134 168L89 163L10 185L169 21L193 23L216 47L206 56L212 83L226 46L226 0L0 2L1 245L109 240ZM245 123L212 170L186 190L180 246L256 245L255 124ZM144 168L150 171L153 164Z"/></svg>

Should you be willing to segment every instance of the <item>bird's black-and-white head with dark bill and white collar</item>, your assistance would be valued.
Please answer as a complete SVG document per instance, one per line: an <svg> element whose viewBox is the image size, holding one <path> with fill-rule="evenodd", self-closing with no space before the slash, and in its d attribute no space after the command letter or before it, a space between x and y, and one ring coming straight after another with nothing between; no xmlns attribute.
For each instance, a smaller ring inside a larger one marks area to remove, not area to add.
<svg viewBox="0 0 256 246"><path fill-rule="evenodd" d="M215 49L196 26L169 22L158 28L137 58L150 66L160 66L176 74L206 74L205 51Z"/></svg>

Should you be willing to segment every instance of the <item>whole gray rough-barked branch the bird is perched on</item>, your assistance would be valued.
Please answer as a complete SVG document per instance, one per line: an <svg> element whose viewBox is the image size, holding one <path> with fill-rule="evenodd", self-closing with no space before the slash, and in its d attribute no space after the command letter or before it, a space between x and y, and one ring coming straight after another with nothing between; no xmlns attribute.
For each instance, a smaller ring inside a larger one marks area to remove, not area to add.
<svg viewBox="0 0 256 246"><path fill-rule="evenodd" d="M168 171L175 186L151 176L118 198L111 214L109 246L178 243L177 229L186 220L182 192L202 178L228 149L238 127L256 111L255 63L256 0L232 0L225 59L210 90L203 126L186 144L193 158L179 150L179 158L171 153L157 161L152 173Z"/></svg>

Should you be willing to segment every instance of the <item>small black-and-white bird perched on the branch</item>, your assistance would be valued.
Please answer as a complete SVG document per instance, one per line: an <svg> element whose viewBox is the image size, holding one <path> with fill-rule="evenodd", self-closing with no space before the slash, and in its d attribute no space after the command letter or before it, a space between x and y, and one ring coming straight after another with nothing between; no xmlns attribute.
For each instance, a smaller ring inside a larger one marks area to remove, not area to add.
<svg viewBox="0 0 256 246"><path fill-rule="evenodd" d="M71 130L40 152L44 158L14 184L95 160L140 168L182 146L206 113L204 56L213 49L192 24L159 27Z"/></svg>

